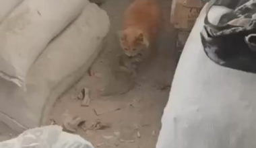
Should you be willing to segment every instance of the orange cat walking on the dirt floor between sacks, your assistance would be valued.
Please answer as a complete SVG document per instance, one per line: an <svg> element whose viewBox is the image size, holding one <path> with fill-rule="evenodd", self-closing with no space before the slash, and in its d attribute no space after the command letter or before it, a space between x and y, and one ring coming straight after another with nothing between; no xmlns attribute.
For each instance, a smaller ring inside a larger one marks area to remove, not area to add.
<svg viewBox="0 0 256 148"><path fill-rule="evenodd" d="M156 48L161 18L156 0L135 0L129 5L123 17L123 30L119 32L121 47L128 57L135 57L145 50L152 52L152 48Z"/></svg>

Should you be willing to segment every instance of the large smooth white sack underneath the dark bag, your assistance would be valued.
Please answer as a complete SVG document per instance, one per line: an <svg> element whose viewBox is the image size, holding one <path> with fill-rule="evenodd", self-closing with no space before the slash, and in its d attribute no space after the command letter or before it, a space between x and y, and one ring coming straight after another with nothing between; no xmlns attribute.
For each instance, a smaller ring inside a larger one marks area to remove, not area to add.
<svg viewBox="0 0 256 148"><path fill-rule="evenodd" d="M213 7L210 21L227 11ZM204 18L205 8L181 55L156 147L255 148L256 75L221 67L205 55L199 35Z"/></svg>

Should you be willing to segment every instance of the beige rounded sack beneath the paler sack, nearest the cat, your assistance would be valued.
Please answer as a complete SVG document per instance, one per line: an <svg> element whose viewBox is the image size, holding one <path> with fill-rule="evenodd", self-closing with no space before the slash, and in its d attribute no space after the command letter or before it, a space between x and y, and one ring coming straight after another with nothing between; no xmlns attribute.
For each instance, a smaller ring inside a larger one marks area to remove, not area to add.
<svg viewBox="0 0 256 148"><path fill-rule="evenodd" d="M0 79L0 120L5 118L5 122L18 130L43 124L56 98L88 70L104 44L109 26L106 12L94 3L87 3L81 15L30 67L26 91Z"/></svg>

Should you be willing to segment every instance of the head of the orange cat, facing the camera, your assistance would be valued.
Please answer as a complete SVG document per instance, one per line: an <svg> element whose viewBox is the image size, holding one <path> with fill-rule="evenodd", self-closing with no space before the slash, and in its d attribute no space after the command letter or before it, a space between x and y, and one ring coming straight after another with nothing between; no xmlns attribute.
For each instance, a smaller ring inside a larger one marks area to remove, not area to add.
<svg viewBox="0 0 256 148"><path fill-rule="evenodd" d="M128 28L118 32L118 35L121 47L128 57L134 57L139 54L143 48L148 48L149 46L149 42L141 30Z"/></svg>

